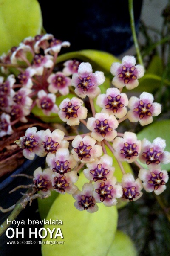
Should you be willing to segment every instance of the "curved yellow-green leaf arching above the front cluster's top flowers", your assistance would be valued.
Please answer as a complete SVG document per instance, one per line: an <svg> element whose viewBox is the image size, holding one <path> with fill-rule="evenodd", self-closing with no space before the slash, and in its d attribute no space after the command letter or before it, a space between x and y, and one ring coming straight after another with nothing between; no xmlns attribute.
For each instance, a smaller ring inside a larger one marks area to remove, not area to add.
<svg viewBox="0 0 170 256"><path fill-rule="evenodd" d="M89 62L94 70L103 71L105 76L111 77L113 77L110 73L112 63L121 62L118 58L108 52L85 49L58 56L57 63L73 58L79 59L80 61Z"/></svg>

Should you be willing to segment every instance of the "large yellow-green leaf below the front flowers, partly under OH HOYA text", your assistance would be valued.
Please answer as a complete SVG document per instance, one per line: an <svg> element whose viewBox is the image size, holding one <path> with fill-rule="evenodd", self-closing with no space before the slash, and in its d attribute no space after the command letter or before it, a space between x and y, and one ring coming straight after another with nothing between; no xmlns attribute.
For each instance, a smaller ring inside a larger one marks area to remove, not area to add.
<svg viewBox="0 0 170 256"><path fill-rule="evenodd" d="M83 176L80 175L79 184L85 182ZM62 220L63 224L45 225L45 228L61 228L64 239L60 236L51 239L48 235L43 240L59 240L65 243L62 246L42 244L42 256L103 256L111 246L118 221L116 207L105 207L101 203L98 204L97 212L89 213L77 210L74 202L72 195L60 194L52 204L47 219Z"/></svg>

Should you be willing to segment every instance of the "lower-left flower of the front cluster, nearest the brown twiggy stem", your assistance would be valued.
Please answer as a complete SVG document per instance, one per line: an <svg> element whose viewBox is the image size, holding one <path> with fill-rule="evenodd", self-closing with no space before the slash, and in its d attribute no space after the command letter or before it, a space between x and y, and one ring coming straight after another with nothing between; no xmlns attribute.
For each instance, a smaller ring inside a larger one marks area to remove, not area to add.
<svg viewBox="0 0 170 256"><path fill-rule="evenodd" d="M42 171L41 167L38 167L34 171L34 179L33 183L38 192L42 195L51 195L52 184L51 184L51 176L53 172L50 168L44 169Z"/></svg>

